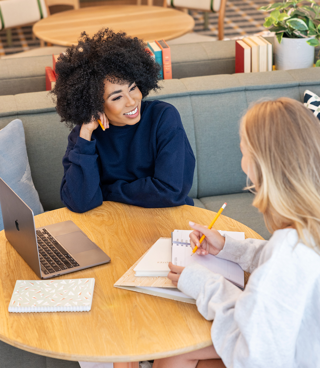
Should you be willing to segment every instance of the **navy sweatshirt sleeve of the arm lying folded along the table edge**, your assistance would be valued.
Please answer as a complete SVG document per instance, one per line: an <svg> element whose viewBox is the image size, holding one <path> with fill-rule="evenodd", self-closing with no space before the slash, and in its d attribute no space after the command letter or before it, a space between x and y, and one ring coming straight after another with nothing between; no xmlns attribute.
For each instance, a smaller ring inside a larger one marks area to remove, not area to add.
<svg viewBox="0 0 320 368"><path fill-rule="evenodd" d="M117 180L113 184L105 185L103 195L108 201L145 208L193 205L188 193L193 181L195 157L178 111L165 109L159 125L166 119L177 124L163 132L160 128L153 177L139 178L131 183Z"/></svg>

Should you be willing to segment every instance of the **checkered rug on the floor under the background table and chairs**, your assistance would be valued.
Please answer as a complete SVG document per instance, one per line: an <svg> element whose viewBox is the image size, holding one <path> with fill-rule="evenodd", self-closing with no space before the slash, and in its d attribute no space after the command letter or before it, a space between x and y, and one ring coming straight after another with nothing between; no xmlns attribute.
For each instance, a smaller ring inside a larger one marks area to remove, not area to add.
<svg viewBox="0 0 320 368"><path fill-rule="evenodd" d="M233 0L227 1L224 18L225 39L237 39L263 31L267 13L259 7L269 4L269 0ZM191 11L195 19L194 32L217 38L218 14L209 13L209 29L204 29L203 12ZM32 35L32 26L14 28L0 32L0 56L39 47L40 42Z"/></svg>

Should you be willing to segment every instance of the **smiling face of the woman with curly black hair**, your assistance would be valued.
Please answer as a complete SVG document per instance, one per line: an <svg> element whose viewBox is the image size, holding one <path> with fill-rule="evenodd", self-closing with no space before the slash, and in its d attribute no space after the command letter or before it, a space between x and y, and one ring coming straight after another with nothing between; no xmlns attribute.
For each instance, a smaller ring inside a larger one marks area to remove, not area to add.
<svg viewBox="0 0 320 368"><path fill-rule="evenodd" d="M116 84L105 79L103 98L104 113L110 124L122 127L140 121L142 94L135 83Z"/></svg>

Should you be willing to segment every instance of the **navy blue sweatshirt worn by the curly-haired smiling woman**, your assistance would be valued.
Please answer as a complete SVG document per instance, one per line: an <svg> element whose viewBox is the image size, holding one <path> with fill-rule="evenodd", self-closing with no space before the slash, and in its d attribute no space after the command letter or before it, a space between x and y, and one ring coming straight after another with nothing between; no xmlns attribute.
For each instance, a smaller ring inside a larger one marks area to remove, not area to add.
<svg viewBox="0 0 320 368"><path fill-rule="evenodd" d="M166 102L142 101L135 125L111 125L79 137L77 125L63 157L61 201L85 212L115 201L146 208L193 205L188 197L195 169L177 109Z"/></svg>

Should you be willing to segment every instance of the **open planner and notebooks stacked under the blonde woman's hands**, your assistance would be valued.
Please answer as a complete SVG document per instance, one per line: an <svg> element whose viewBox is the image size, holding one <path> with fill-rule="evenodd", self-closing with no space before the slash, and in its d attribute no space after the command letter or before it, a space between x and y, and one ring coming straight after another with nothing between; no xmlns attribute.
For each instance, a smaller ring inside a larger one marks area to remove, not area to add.
<svg viewBox="0 0 320 368"><path fill-rule="evenodd" d="M171 238L160 238L150 249L120 277L114 287L137 291L139 293L160 296L195 304L195 300L177 289L167 278L170 269L168 263L187 266L198 262L215 273L220 273L241 289L244 288L244 272L234 262L208 254L192 254L189 234L193 230L174 230ZM231 238L244 240L245 234L235 231L219 231Z"/></svg>

